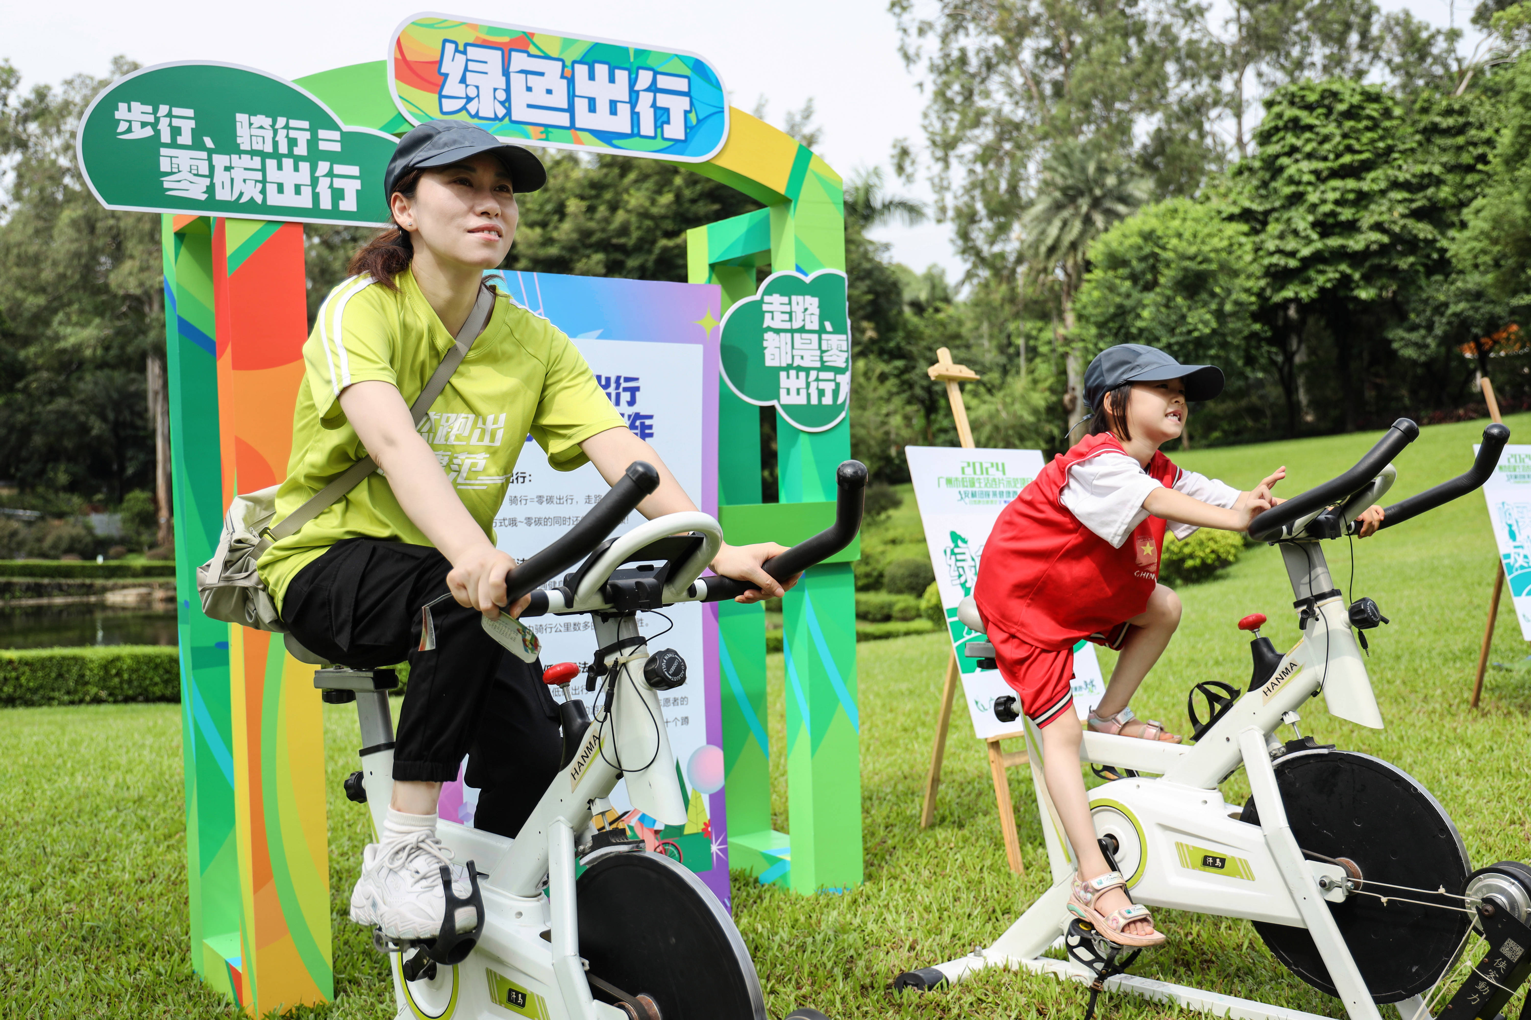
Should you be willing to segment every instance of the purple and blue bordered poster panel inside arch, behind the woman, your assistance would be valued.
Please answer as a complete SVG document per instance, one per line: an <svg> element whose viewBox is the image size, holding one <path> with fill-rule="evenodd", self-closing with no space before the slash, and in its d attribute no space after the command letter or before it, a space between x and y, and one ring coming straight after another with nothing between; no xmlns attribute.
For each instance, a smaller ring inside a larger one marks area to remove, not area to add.
<svg viewBox="0 0 1531 1020"><path fill-rule="evenodd" d="M717 515L720 287L537 272L488 277L513 301L547 317L574 341L628 428L654 447L703 512ZM495 518L496 543L524 560L562 537L608 489L592 465L554 471L527 437ZM634 512L614 534L641 520ZM672 856L678 850L681 862L727 904L724 795L704 768L709 752L703 751L723 746L717 619L707 607L690 604L664 610L663 616L641 613L638 621L646 636L657 638L652 648L675 648L689 667L689 682L660 697L681 766L677 781L689 804L687 821L664 827L631 810L620 784L612 803L625 810L629 830L641 835L649 849L672 844L661 849ZM542 641L544 665L591 661L596 632L588 616L540 616L527 625ZM585 693L582 677L570 690L592 697ZM586 708L594 714L594 705ZM703 766L695 777L692 762ZM476 800L478 791L461 780L452 783L441 794L441 817L472 824Z"/></svg>

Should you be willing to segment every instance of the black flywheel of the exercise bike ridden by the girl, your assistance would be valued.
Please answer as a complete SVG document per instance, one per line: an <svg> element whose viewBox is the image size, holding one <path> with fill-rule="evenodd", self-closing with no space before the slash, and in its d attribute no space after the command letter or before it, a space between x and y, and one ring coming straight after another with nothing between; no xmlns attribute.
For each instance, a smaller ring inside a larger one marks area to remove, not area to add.
<svg viewBox="0 0 1531 1020"><path fill-rule="evenodd" d="M1297 846L1355 862L1358 890L1389 898L1352 892L1344 902L1327 904L1372 999L1402 1002L1433 986L1473 922L1462 899L1450 896L1462 892L1473 870L1451 818L1409 774L1367 754L1295 751L1272 768ZM1258 824L1254 800L1240 820ZM1438 888L1448 895L1436 895ZM1254 927L1294 974L1337 994L1306 928L1262 921Z"/></svg>

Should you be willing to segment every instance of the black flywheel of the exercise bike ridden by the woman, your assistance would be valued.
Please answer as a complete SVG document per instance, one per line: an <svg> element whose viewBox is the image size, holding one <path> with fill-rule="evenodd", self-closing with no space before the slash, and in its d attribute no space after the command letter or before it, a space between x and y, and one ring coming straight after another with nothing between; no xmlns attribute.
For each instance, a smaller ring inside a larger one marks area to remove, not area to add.
<svg viewBox="0 0 1531 1020"><path fill-rule="evenodd" d="M609 853L576 890L579 953L594 977L649 996L661 1020L767 1020L744 939L689 869L661 853Z"/></svg>

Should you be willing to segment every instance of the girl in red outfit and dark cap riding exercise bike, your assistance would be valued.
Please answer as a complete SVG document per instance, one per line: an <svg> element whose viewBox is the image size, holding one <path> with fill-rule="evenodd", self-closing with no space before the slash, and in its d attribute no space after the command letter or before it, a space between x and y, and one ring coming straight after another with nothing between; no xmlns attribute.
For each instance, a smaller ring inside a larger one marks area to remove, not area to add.
<svg viewBox="0 0 1531 1020"><path fill-rule="evenodd" d="M1165 529L1182 541L1197 528L1246 531L1280 502L1271 486L1286 477L1277 468L1240 492L1159 453L1185 431L1188 404L1222 388L1214 365L1182 365L1141 344L1101 352L1084 373L1090 434L1001 511L974 587L1000 673L1041 729L1043 777L1079 866L1069 911L1118 945L1160 945L1165 936L1148 908L1127 898L1125 879L1095 841L1069 685L1073 645L1087 639L1119 653L1085 720L1093 733L1180 742L1128 708L1180 624L1180 599L1157 580ZM1370 535L1382 511L1373 506L1360 520L1361 535Z"/></svg>

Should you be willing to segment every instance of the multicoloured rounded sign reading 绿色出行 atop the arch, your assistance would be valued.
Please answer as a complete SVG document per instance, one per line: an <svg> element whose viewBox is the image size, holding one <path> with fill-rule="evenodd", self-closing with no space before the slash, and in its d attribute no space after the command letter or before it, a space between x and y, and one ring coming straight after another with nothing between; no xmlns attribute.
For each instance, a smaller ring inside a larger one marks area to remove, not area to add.
<svg viewBox="0 0 1531 1020"><path fill-rule="evenodd" d="M393 32L389 89L410 124L468 121L550 148L698 164L729 136L701 57L519 24L416 15Z"/></svg>

